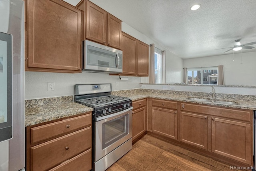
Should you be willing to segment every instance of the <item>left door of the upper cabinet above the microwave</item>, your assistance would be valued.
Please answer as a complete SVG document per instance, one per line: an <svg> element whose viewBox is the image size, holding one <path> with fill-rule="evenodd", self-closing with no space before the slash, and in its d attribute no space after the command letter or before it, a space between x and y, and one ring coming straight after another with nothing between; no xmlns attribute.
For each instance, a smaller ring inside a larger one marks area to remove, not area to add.
<svg viewBox="0 0 256 171"><path fill-rule="evenodd" d="M106 45L106 12L86 1L86 39Z"/></svg>

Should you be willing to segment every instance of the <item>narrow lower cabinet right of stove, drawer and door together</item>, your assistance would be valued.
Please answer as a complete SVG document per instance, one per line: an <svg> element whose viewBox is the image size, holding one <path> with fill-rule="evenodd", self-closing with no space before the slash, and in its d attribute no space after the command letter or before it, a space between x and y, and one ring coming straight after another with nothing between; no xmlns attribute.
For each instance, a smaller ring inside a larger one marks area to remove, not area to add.
<svg viewBox="0 0 256 171"><path fill-rule="evenodd" d="M132 102L132 141L146 132L146 99Z"/></svg>

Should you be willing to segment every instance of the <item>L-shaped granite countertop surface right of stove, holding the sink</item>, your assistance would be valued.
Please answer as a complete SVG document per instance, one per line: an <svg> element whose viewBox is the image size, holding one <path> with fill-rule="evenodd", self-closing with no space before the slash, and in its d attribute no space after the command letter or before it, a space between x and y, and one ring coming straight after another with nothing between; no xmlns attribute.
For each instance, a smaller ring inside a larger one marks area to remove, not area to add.
<svg viewBox="0 0 256 171"><path fill-rule="evenodd" d="M197 103L197 104L205 104L205 105L215 105L215 106L221 106L221 107L232 107L232 108L238 108L238 109L249 109L249 110L256 110L256 103L255 101L246 101L246 100L231 100L231 99L218 99L216 100L222 100L222 101L232 101L237 102L239 104L222 104L222 103L214 103L214 102L203 102L203 101L194 101L190 100L188 98L195 97L195 96L185 96L185 95L173 95L173 94L163 94L163 93L127 93L127 94L119 94L123 97L130 97L132 101L136 101L139 99L144 98L158 98L158 99L166 99L166 100L174 100L174 101L182 101L182 102L190 102L190 103ZM202 98L202 97L198 97Z"/></svg>

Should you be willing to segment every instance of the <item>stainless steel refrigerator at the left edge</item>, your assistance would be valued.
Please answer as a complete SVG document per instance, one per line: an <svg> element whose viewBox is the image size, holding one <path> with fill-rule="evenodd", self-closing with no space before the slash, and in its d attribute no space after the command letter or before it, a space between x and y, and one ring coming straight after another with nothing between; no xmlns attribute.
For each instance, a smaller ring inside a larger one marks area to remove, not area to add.
<svg viewBox="0 0 256 171"><path fill-rule="evenodd" d="M24 2L0 0L0 171L24 167Z"/></svg>

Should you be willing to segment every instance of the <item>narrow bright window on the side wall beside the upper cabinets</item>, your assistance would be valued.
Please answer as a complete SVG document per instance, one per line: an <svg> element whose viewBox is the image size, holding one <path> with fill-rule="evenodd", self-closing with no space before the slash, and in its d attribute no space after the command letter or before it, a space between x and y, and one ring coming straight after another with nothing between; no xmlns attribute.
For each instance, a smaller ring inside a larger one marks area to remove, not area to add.
<svg viewBox="0 0 256 171"><path fill-rule="evenodd" d="M162 50L155 47L155 83L162 83Z"/></svg>

